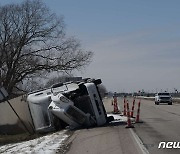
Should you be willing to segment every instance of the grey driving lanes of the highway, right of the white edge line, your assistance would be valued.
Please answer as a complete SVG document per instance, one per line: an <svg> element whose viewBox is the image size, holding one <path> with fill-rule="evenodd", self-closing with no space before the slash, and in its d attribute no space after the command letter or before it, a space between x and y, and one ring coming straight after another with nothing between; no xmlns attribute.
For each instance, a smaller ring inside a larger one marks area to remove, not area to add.
<svg viewBox="0 0 180 154"><path fill-rule="evenodd" d="M132 99L127 98L132 104ZM137 102L136 100L136 109ZM119 98L122 108L123 100ZM180 142L180 104L155 105L153 101L141 100L140 119L133 131L139 136L150 154L179 154L180 149L158 149L159 142Z"/></svg>

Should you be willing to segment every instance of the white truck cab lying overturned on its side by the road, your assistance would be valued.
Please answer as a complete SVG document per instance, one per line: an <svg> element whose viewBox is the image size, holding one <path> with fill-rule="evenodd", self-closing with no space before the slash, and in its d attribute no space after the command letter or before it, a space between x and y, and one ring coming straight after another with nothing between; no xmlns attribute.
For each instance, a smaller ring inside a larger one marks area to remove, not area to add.
<svg viewBox="0 0 180 154"><path fill-rule="evenodd" d="M58 83L28 95L35 131L46 132L66 125L71 128L101 126L107 117L98 85L100 79Z"/></svg>

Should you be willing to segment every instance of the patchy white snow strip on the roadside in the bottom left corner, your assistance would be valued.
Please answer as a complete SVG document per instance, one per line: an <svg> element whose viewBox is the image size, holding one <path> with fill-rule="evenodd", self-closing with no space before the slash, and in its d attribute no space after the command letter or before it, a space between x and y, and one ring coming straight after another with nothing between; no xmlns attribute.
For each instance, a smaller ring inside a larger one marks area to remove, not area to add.
<svg viewBox="0 0 180 154"><path fill-rule="evenodd" d="M42 136L33 140L0 146L0 153L54 154L62 142L69 137L66 130Z"/></svg>

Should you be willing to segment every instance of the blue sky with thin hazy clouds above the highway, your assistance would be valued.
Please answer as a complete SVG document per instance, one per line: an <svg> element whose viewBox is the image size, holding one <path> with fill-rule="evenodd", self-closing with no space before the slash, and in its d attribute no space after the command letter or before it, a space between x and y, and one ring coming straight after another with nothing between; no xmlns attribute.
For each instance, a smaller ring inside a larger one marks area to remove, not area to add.
<svg viewBox="0 0 180 154"><path fill-rule="evenodd" d="M101 78L109 91L180 91L179 0L43 1L94 52L76 76ZM22 0L0 0L12 2Z"/></svg>

